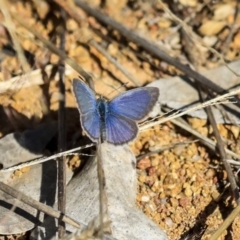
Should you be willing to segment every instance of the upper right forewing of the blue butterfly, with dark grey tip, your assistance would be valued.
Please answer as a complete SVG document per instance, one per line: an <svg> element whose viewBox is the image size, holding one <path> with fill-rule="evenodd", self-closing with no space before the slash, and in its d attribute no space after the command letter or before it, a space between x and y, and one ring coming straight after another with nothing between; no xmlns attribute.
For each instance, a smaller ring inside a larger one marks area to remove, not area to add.
<svg viewBox="0 0 240 240"><path fill-rule="evenodd" d="M134 121L143 120L153 109L159 97L156 87L142 87L127 91L112 99L108 111Z"/></svg>

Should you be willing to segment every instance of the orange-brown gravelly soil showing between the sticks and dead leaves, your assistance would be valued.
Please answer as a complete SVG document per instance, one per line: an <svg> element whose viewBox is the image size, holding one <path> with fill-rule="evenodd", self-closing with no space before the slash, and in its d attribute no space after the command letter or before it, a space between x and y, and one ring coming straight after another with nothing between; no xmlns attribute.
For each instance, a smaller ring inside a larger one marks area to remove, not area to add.
<svg viewBox="0 0 240 240"><path fill-rule="evenodd" d="M72 1L66 2L73 6ZM198 47L196 52L192 51L192 56L189 56L186 50L188 41L183 37L181 24L164 11L160 1L104 1L102 4L95 0L88 1L88 4L100 8L122 25L157 44L170 56L182 63L194 65L198 70L211 69L221 64L219 57L206 46L216 49L228 61L239 59L240 15L235 15L238 8L236 0L216 3L207 0L168 1L167 7L205 44L203 46L201 41L196 42L197 38L194 39L193 43L202 47ZM59 32L63 22L60 18L61 8L54 1L8 1L7 5L11 16L18 15L26 19L27 24L45 39L59 45ZM181 74L176 67L151 57L135 43L128 42L117 31L102 25L80 8L74 7L74 10L81 22L68 16L64 23L66 53L92 76L97 93L111 98L118 91L136 85L116 65L109 62L93 42L105 49L140 85L159 77ZM4 82L14 76L21 76L23 68L16 57L16 49L3 12L0 12L0 20L0 81ZM44 121L56 120L59 107L57 73L53 71L50 75L44 74L44 67L47 64L57 65L59 57L45 48L41 41L14 18L12 24L14 28L11 31L18 36L17 40L25 51L31 70L42 68L44 84L5 92L0 96L1 137ZM231 30L232 38L227 40ZM192 59L196 61L192 62ZM71 92L73 77L78 77L78 73L72 71L66 76L67 141L71 144L76 142L81 134L79 115ZM188 122L204 136L214 139L212 128L207 121L188 118ZM239 126L219 124L218 128L226 145L239 154ZM136 156L139 156L187 140L192 140L190 134L167 122L141 133L131 147ZM78 144L82 143L78 141ZM73 147L71 144L69 148ZM75 168L79 163L73 158L70 165ZM149 154L138 161L137 169L137 206L166 231L169 239L187 236L194 239L200 234L203 235L201 239L209 239L236 206L226 186L227 174L218 153L211 152L199 142ZM238 168L232 169L238 180ZM220 239L240 239L239 233L237 217ZM9 238L2 236L1 239L24 238L17 235Z"/></svg>

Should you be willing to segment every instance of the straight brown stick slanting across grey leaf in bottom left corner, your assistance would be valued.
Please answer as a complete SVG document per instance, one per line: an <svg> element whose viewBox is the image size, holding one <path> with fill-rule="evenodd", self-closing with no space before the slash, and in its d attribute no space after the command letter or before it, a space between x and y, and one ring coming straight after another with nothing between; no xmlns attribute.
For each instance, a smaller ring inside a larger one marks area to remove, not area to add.
<svg viewBox="0 0 240 240"><path fill-rule="evenodd" d="M0 189L11 195L12 197L18 199L19 201L21 202L24 202L26 203L27 205L41 211L41 212L44 212L46 213L47 215L51 216L51 217L54 217L54 218L57 218L59 219L60 217L62 217L62 221L64 221L65 223L68 223L68 224L71 224L72 226L76 227L76 228L81 228L81 225L75 221L74 219L66 216L66 215L63 215L61 212L59 211L56 211L54 210L52 207L49 207L41 202L38 202L36 200L34 200L33 198L15 190L14 188L6 185L5 183L3 182L0 182Z"/></svg>

